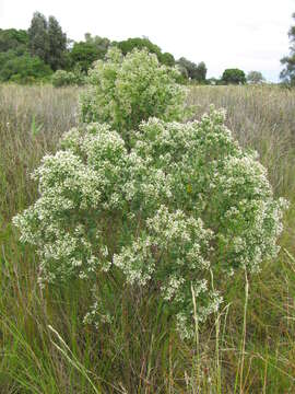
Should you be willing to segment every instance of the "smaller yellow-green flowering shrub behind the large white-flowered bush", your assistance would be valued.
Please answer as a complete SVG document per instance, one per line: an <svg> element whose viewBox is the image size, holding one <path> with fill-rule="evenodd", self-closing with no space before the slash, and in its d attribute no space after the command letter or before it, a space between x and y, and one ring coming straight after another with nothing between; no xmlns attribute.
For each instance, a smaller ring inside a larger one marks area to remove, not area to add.
<svg viewBox="0 0 295 394"><path fill-rule="evenodd" d="M81 120L106 121L125 139L151 116L182 120L186 91L176 83L179 76L148 50L134 49L123 57L113 47L106 61L98 60L90 71L91 85L80 100Z"/></svg>

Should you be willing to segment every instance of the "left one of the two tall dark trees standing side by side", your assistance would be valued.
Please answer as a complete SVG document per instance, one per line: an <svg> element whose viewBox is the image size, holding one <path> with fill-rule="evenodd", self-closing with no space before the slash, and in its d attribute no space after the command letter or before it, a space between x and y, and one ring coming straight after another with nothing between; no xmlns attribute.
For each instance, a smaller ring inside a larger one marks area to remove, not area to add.
<svg viewBox="0 0 295 394"><path fill-rule="evenodd" d="M46 18L40 12L35 12L31 22L28 33L28 47L31 55L38 56L48 62L49 39L48 24Z"/></svg>

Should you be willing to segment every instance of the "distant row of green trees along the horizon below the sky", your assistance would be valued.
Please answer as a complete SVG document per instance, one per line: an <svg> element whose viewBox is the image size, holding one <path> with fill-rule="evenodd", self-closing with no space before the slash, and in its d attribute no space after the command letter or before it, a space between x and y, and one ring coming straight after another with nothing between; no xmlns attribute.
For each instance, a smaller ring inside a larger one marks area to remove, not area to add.
<svg viewBox="0 0 295 394"><path fill-rule="evenodd" d="M146 48L156 55L161 63L177 65L181 72L181 82L244 84L247 81L260 83L264 80L259 71L250 71L246 77L243 70L236 68L226 69L220 79L206 79L204 61L196 63L185 57L176 60L170 53L163 53L148 37L111 42L106 37L86 33L84 40L74 42L67 37L55 16L46 19L40 12L35 12L27 31L0 28L0 81L49 81L57 70L64 70L63 82L70 84L72 81L82 81L81 76L87 73L95 60L104 59L110 46L117 46L123 55L134 48ZM61 77L61 73L59 76Z"/></svg>

